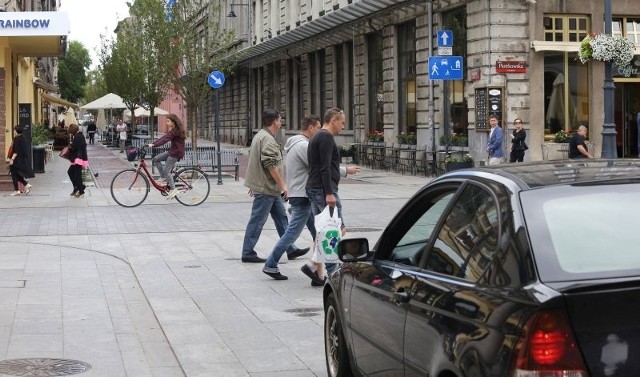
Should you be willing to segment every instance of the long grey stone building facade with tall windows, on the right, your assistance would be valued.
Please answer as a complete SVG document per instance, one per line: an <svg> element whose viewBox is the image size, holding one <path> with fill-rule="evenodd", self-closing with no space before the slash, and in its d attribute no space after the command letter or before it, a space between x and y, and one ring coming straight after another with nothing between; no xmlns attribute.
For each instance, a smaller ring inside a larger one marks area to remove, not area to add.
<svg viewBox="0 0 640 377"><path fill-rule="evenodd" d="M613 33L640 46L636 2L611 3ZM304 115L339 107L347 119L339 144L377 130L389 144L415 135L427 150L456 140L482 161L495 114L507 133L515 118L524 120L527 160L562 157L555 133L580 124L600 155L604 64L582 64L578 50L588 33L604 30L602 2L233 0L226 7L236 17L221 23L243 43L219 93L223 141L248 143L267 107L282 113L284 137L298 133ZM443 31L452 39L439 39ZM618 156L635 157L640 59L614 72ZM203 129L211 129L212 102L203 105Z"/></svg>

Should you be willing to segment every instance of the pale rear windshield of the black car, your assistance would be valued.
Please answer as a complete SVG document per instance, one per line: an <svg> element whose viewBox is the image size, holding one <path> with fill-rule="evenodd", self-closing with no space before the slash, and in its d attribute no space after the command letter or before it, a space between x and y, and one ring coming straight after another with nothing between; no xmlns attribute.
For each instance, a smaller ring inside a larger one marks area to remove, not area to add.
<svg viewBox="0 0 640 377"><path fill-rule="evenodd" d="M547 187L520 198L542 281L640 275L640 184Z"/></svg>

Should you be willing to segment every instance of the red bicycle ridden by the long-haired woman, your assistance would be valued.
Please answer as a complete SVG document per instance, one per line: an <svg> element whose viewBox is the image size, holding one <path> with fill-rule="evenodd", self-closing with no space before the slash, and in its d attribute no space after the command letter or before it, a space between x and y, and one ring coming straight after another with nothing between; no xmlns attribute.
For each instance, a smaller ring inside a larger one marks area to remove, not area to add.
<svg viewBox="0 0 640 377"><path fill-rule="evenodd" d="M147 169L145 156L147 146L136 148L139 159L136 168L125 169L113 177L111 181L111 197L123 207L137 207L142 204L149 195L150 187L160 191L162 196L169 195L169 185L159 184ZM135 159L132 158L131 160ZM176 200L185 206L197 206L202 204L207 197L211 186L206 174L195 166L179 168L171 172L178 195Z"/></svg>

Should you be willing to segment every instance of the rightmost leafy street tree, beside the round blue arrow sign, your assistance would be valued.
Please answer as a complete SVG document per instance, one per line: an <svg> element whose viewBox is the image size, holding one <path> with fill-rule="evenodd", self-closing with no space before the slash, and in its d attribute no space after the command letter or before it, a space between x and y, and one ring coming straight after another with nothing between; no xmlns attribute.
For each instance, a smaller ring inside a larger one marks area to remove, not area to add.
<svg viewBox="0 0 640 377"><path fill-rule="evenodd" d="M180 59L174 82L187 104L191 142L195 148L198 108L211 95L207 77L214 69L225 74L231 72L233 62L223 58L232 46L234 33L220 27L220 7L213 2L178 0L168 8L174 32L173 47Z"/></svg>

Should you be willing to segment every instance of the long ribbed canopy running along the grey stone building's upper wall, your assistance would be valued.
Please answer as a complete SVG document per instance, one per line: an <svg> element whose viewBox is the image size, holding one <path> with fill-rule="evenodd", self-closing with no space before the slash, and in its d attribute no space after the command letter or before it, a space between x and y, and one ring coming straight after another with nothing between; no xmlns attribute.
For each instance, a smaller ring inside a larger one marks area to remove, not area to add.
<svg viewBox="0 0 640 377"><path fill-rule="evenodd" d="M245 48L236 53L238 65L250 68L294 57L323 47L351 40L361 34L359 26L375 27L375 20L394 12L406 12L425 6L424 0L358 0L344 8Z"/></svg>

